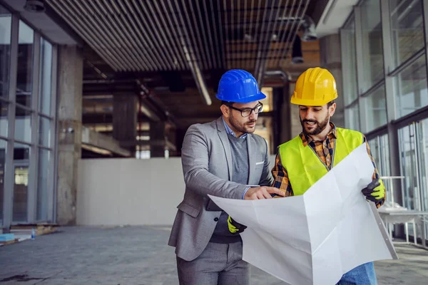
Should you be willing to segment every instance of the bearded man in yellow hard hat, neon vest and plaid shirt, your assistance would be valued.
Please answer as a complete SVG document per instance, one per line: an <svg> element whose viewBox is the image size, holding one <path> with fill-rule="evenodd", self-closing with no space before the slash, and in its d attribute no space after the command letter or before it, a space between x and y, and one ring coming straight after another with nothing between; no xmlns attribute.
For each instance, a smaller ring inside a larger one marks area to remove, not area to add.
<svg viewBox="0 0 428 285"><path fill-rule="evenodd" d="M309 68L297 78L291 103L299 106L302 133L278 147L272 168L273 187L285 196L302 195L337 163L360 146L374 165L373 180L362 190L368 201L382 206L385 188L379 179L370 147L362 133L337 128L330 122L336 110L335 78L324 68ZM337 284L377 284L373 263L362 264L342 276Z"/></svg>

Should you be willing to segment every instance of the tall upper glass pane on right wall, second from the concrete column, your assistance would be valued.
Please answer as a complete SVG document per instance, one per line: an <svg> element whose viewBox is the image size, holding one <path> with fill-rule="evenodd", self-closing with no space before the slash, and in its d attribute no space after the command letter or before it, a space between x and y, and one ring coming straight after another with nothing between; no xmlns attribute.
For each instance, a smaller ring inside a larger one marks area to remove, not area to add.
<svg viewBox="0 0 428 285"><path fill-rule="evenodd" d="M361 5L362 17L362 64L364 81L362 92L384 78L382 51L382 24L379 0L367 0Z"/></svg>

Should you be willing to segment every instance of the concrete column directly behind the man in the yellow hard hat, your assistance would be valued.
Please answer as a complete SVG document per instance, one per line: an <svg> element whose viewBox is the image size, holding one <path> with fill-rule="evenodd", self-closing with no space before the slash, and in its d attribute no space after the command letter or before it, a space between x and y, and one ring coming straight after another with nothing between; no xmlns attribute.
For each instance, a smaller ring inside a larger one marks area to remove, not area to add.
<svg viewBox="0 0 428 285"><path fill-rule="evenodd" d="M337 127L345 128L345 105L342 93L342 58L340 53L340 35L335 33L320 38L320 63L322 68L327 68L335 76L337 93L335 100L337 108L332 122Z"/></svg>

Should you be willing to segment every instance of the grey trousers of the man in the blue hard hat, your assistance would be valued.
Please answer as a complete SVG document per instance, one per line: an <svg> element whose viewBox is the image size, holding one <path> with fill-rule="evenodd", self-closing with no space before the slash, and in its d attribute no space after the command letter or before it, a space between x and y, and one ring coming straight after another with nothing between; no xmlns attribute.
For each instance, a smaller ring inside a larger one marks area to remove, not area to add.
<svg viewBox="0 0 428 285"><path fill-rule="evenodd" d="M209 242L202 254L192 261L177 257L178 280L180 285L248 285L249 266L242 258L242 242Z"/></svg>

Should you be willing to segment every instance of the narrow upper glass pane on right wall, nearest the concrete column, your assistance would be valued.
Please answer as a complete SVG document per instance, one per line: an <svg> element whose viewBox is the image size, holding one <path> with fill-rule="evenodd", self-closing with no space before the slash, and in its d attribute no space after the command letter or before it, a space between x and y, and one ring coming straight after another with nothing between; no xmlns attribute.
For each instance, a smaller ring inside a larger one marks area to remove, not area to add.
<svg viewBox="0 0 428 285"><path fill-rule="evenodd" d="M352 20L342 28L340 33L342 41L342 77L343 95L345 105L349 105L357 99L357 63L355 61L355 20Z"/></svg>

